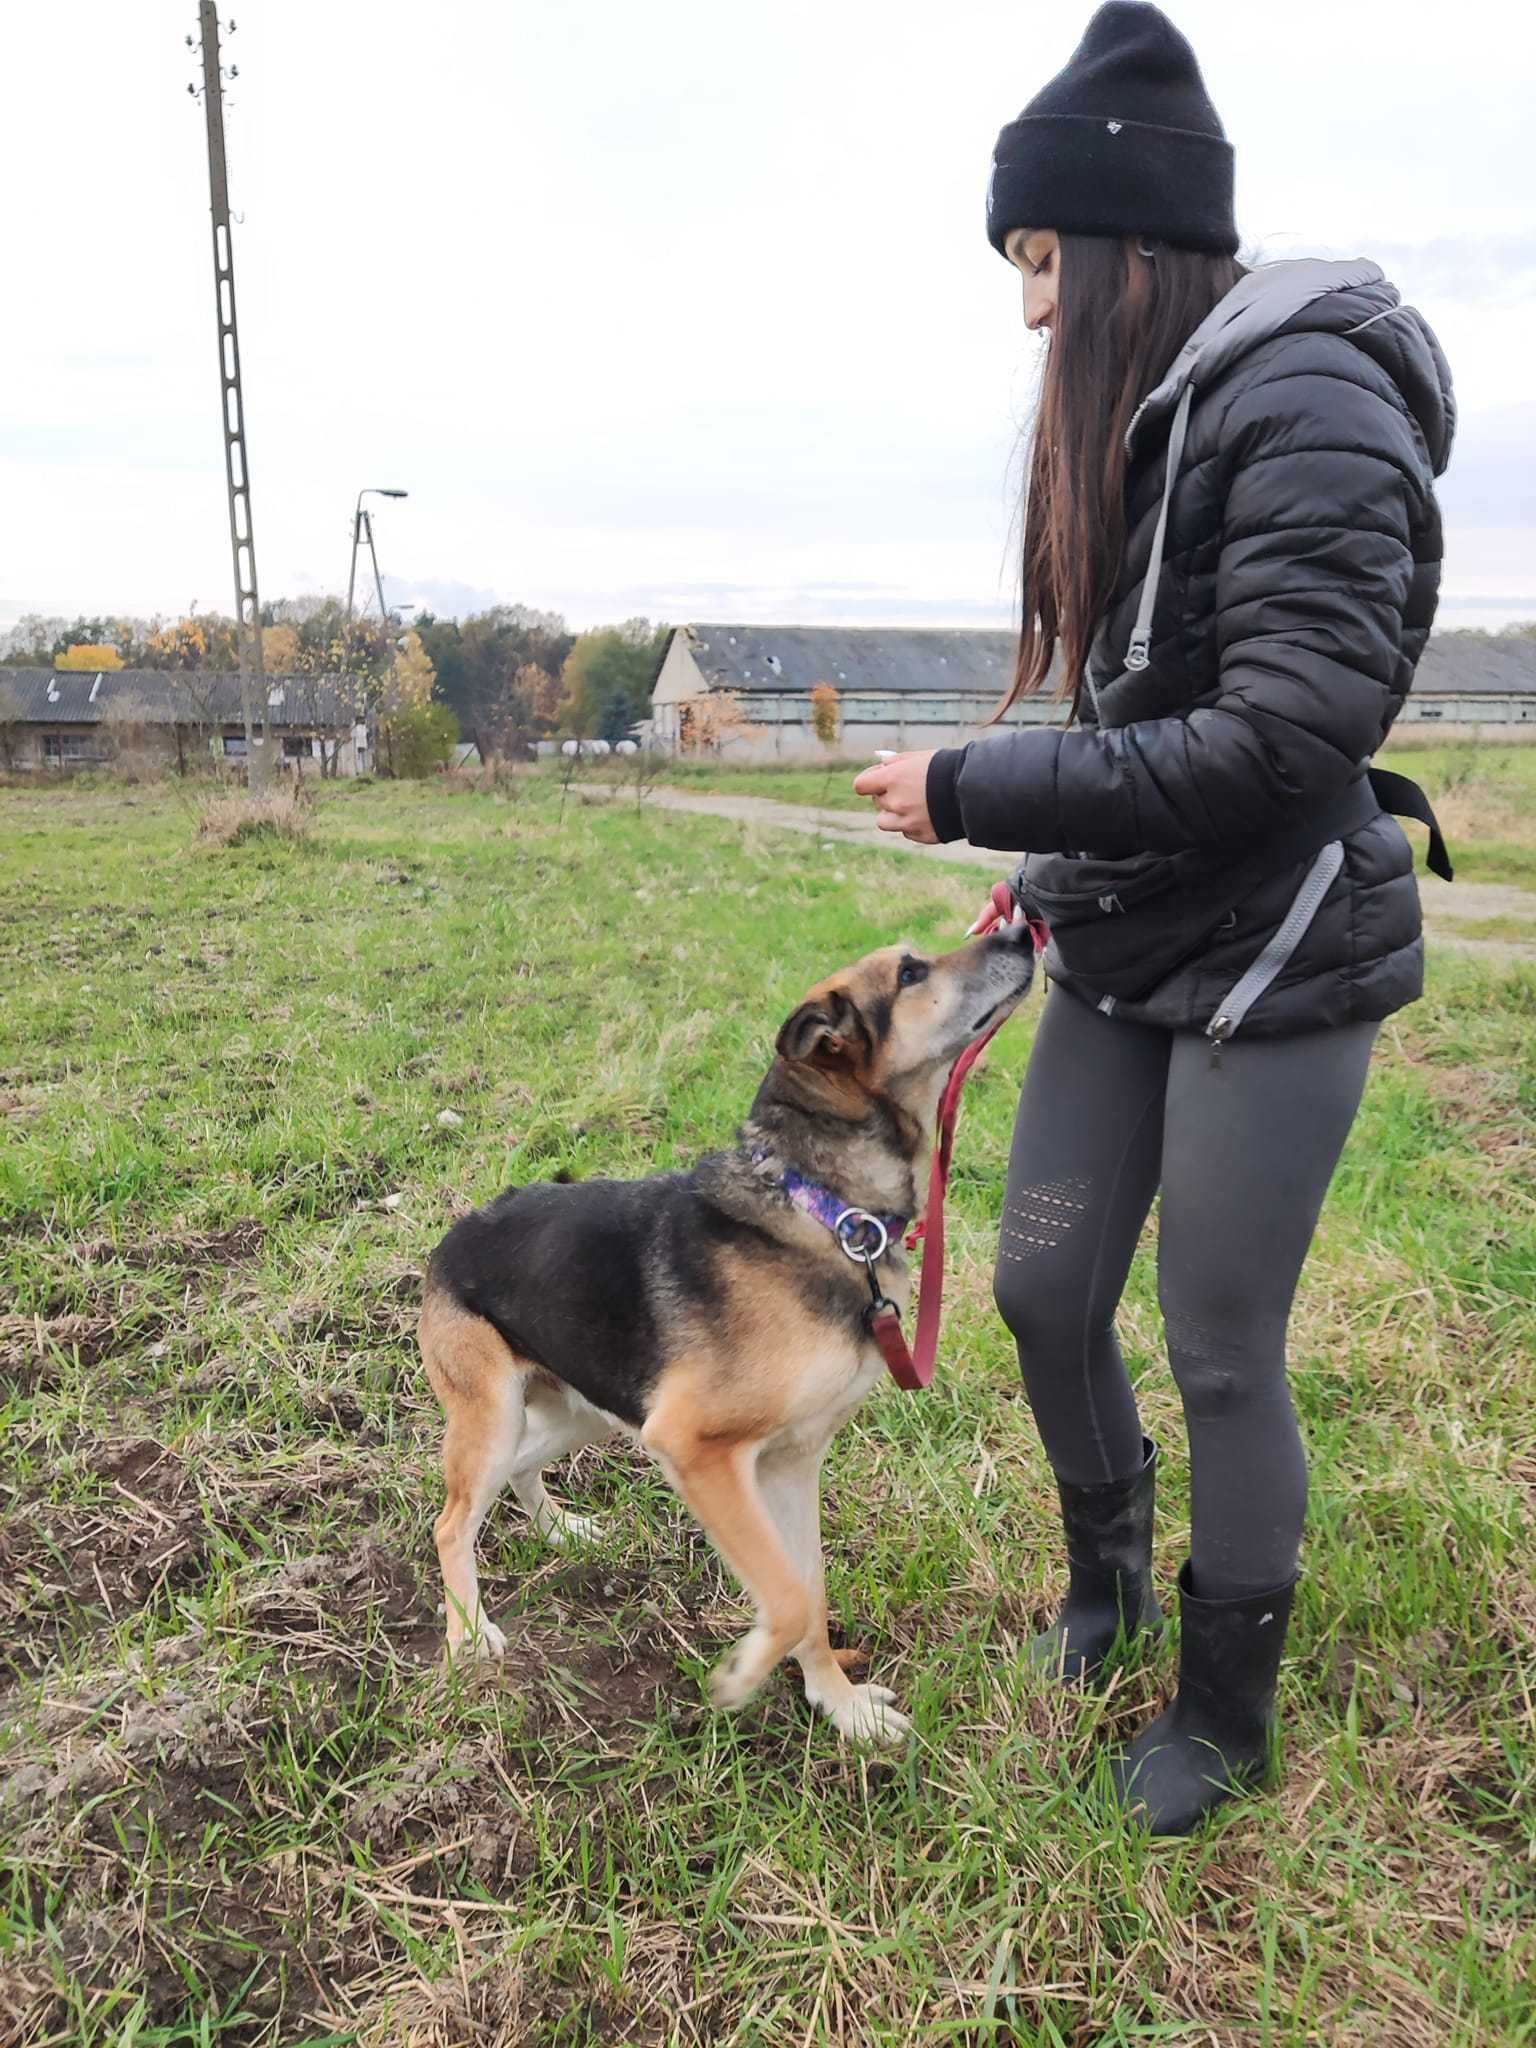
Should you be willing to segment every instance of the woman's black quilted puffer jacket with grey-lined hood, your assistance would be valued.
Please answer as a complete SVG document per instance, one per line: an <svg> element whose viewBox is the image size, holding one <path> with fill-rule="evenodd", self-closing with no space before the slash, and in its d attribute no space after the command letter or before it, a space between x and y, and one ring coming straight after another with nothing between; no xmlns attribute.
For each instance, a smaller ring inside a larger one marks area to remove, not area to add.
<svg viewBox="0 0 1536 2048"><path fill-rule="evenodd" d="M1126 670L1186 387L1149 662ZM1090 664L1098 711L1085 690L1071 729L934 756L940 838L1047 856L1026 872L1053 887L1079 858L1126 862L1124 936L1176 965L1116 1016L1204 1026L1286 915L1309 860L1282 852L1270 872L1266 842L1294 848L1362 776L1413 680L1452 430L1440 346L1374 264L1253 270L1133 420L1124 567ZM1130 901L1147 856L1169 854L1178 887ZM1210 926L1223 872L1251 864L1264 881ZM1055 977L1098 999L1069 932L1053 952ZM1341 870L1243 1032L1384 1018L1421 983L1411 850L1378 813L1343 836Z"/></svg>

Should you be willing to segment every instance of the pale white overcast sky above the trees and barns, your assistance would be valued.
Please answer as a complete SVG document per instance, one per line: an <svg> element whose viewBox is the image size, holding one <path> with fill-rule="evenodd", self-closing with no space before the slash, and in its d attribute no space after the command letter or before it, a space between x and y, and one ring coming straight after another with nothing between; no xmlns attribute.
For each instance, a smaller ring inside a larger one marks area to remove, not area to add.
<svg viewBox="0 0 1536 2048"><path fill-rule="evenodd" d="M233 0L264 598L1006 623L1034 344L993 137L1063 0ZM227 25L225 8L225 25ZM1446 346L1442 625L1536 616L1528 4L1176 0L1260 252L1374 256ZM0 629L231 608L190 0L12 6Z"/></svg>

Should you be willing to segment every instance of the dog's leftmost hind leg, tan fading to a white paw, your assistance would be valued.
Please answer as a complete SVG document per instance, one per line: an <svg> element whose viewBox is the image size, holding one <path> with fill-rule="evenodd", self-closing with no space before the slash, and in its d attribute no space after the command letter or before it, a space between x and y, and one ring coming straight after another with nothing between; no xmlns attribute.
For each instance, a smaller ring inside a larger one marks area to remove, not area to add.
<svg viewBox="0 0 1536 2048"><path fill-rule="evenodd" d="M422 1358L449 1427L442 1438L446 1501L434 1524L449 1612L449 1657L502 1657L506 1636L485 1620L475 1536L512 1477L524 1425L526 1368L481 1317L444 1294L422 1307Z"/></svg>

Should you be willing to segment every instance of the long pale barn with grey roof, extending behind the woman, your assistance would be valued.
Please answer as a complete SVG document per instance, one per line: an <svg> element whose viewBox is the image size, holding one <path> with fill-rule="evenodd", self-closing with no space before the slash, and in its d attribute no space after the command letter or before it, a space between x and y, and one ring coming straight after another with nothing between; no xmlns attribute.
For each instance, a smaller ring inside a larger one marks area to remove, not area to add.
<svg viewBox="0 0 1536 2048"><path fill-rule="evenodd" d="M825 756L811 690L831 684L836 750L952 745L985 729L1008 690L1014 647L1014 633L963 629L674 627L651 696L651 739L686 752L707 731L698 700L731 692L745 719L745 731L723 748L733 760ZM1010 711L1028 721L1063 715L1049 690ZM1536 639L1434 637L1403 723L1536 737Z"/></svg>

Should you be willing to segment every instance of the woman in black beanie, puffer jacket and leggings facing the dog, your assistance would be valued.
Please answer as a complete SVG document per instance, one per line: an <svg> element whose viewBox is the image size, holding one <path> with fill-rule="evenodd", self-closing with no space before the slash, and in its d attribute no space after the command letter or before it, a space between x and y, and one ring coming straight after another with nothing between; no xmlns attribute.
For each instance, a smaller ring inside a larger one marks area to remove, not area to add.
<svg viewBox="0 0 1536 2048"><path fill-rule="evenodd" d="M1366 770L1436 608L1454 410L1372 264L1241 270L1231 145L1153 6L1100 8L1004 129L987 231L1051 336L1010 702L1055 662L1073 719L854 788L889 831L1026 852L1053 928L995 1292L1069 1563L1032 1655L1069 1679L1161 1630L1112 1323L1161 1188L1190 1559L1178 1694L1114 1784L1184 1833L1268 1757L1307 1501L1286 1317L1376 1028L1421 989L1382 799L1427 807Z"/></svg>

